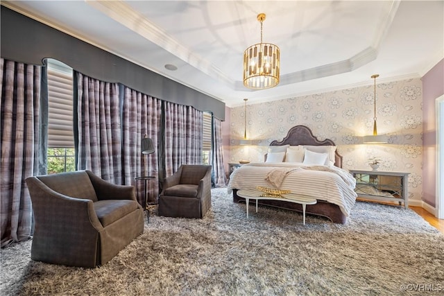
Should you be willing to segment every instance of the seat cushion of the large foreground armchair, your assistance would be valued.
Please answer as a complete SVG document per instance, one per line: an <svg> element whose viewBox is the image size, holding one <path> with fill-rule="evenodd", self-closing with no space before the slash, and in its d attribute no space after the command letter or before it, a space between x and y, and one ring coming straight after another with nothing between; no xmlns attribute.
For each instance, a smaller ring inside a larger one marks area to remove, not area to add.
<svg viewBox="0 0 444 296"><path fill-rule="evenodd" d="M103 227L135 211L137 206L138 203L135 200L99 200L94 202L94 210L96 210L97 217Z"/></svg>

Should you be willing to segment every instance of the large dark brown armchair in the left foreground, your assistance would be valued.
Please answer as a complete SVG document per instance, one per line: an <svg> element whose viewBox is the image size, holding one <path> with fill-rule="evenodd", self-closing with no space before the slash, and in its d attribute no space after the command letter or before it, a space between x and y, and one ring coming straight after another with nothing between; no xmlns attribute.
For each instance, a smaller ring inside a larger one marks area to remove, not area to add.
<svg viewBox="0 0 444 296"><path fill-rule="evenodd" d="M90 171L26 179L35 230L31 259L93 268L144 232L133 186L105 182Z"/></svg>

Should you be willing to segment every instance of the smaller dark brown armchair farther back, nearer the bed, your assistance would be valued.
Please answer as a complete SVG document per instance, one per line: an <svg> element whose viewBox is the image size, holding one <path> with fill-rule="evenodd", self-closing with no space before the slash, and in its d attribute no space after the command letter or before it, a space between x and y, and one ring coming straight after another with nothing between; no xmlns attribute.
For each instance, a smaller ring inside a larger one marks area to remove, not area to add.
<svg viewBox="0 0 444 296"><path fill-rule="evenodd" d="M159 216L203 218L211 208L211 166L182 164L164 179Z"/></svg>

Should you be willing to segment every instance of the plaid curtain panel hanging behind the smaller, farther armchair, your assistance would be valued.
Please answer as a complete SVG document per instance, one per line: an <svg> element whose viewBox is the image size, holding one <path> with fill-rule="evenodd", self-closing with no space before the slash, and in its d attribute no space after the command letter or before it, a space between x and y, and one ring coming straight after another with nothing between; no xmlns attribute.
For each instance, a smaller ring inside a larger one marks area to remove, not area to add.
<svg viewBox="0 0 444 296"><path fill-rule="evenodd" d="M165 102L165 176L181 164L202 163L203 112L191 106Z"/></svg>

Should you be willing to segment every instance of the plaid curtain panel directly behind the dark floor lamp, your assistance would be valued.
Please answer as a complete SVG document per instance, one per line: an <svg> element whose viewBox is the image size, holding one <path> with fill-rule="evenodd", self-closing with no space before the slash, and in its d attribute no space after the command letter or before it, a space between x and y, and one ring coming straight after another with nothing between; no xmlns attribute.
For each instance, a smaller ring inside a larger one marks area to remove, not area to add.
<svg viewBox="0 0 444 296"><path fill-rule="evenodd" d="M135 184L135 177L154 176L155 179L148 184L148 202L155 202L159 195L157 134L160 130L162 101L123 85L121 89L124 184ZM141 141L145 134L153 141L155 152L151 155L142 155ZM142 192L143 182L137 182L136 186L137 192Z"/></svg>

